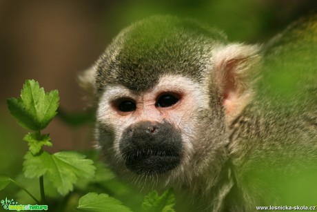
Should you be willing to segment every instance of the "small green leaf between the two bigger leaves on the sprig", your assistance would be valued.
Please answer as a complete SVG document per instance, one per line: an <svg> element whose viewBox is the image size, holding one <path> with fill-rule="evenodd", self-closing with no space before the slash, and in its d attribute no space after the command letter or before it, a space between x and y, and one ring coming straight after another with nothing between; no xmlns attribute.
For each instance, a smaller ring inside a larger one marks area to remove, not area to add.
<svg viewBox="0 0 317 212"><path fill-rule="evenodd" d="M28 142L30 152L35 155L41 151L42 146L53 146L48 134L41 135L40 133L28 133L23 137L25 142Z"/></svg>

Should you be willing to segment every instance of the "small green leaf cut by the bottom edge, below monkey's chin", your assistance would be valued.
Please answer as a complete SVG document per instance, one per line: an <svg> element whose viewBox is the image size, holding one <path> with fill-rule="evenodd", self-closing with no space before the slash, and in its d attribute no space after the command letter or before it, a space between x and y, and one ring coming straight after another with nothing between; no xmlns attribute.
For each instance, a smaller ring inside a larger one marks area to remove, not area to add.
<svg viewBox="0 0 317 212"><path fill-rule="evenodd" d="M145 196L142 210L145 212L172 212L175 204L175 194L172 188L165 191L161 196L156 191Z"/></svg>

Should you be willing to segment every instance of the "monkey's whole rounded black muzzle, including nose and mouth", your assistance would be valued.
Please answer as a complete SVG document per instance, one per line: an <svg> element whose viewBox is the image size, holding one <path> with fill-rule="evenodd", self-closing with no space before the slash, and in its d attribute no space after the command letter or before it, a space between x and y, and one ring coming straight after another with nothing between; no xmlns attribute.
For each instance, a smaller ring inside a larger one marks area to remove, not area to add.
<svg viewBox="0 0 317 212"><path fill-rule="evenodd" d="M138 122L123 132L119 150L127 169L136 174L166 173L181 162L181 132L168 122Z"/></svg>

